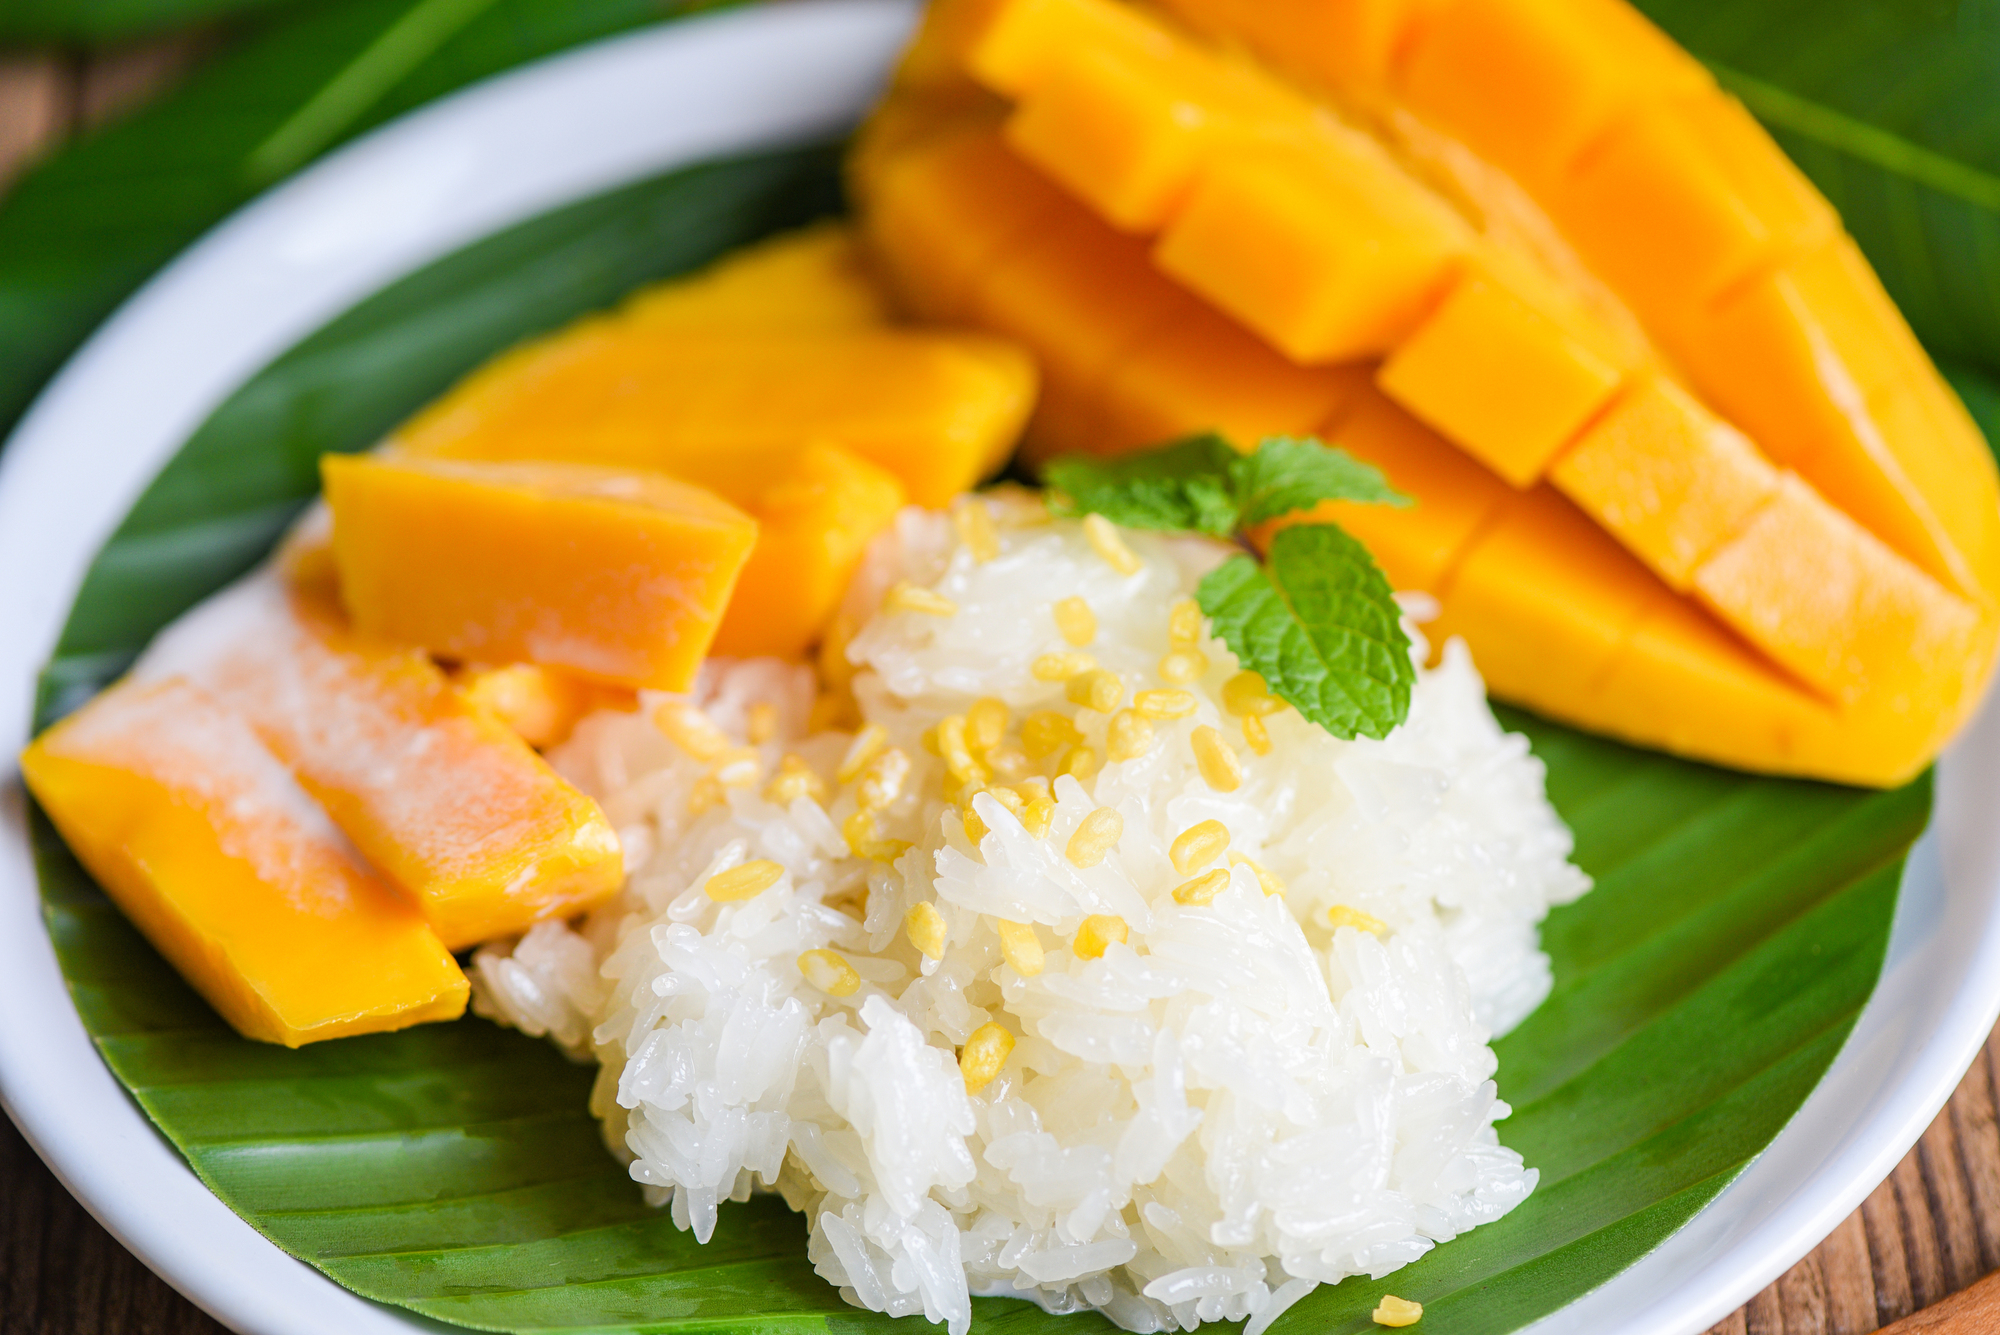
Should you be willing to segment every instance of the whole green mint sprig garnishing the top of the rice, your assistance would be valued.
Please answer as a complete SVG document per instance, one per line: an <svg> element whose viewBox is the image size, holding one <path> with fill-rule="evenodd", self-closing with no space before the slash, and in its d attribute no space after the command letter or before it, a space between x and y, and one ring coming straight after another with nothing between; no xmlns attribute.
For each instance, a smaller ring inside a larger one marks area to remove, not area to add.
<svg viewBox="0 0 2000 1335"><path fill-rule="evenodd" d="M1236 538L1322 502L1408 506L1380 470L1312 438L1274 436L1240 454L1190 436L1120 460L1048 464L1048 506L1126 528ZM1326 520L1280 530L1264 560L1232 556L1196 602L1216 638L1272 695L1336 737L1386 737L1410 715L1416 668L1382 568Z"/></svg>

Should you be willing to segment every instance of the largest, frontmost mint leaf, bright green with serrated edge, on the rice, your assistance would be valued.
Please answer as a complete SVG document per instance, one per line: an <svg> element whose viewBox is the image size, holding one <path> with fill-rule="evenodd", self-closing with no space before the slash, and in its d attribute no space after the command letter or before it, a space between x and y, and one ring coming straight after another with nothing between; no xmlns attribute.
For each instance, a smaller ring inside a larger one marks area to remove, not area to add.
<svg viewBox="0 0 2000 1335"><path fill-rule="evenodd" d="M1196 590L1216 636L1270 693L1340 739L1386 737L1410 715L1410 638L1368 548L1336 524L1298 524L1270 566L1232 556Z"/></svg>

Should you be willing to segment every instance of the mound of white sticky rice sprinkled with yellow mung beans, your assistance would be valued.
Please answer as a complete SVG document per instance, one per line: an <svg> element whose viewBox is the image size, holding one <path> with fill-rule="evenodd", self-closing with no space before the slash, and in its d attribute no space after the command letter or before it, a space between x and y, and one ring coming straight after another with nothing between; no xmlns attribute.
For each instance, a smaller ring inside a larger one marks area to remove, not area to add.
<svg viewBox="0 0 2000 1335"><path fill-rule="evenodd" d="M1488 1041L1588 881L1464 646L1338 741L1206 636L1226 548L968 504L870 554L852 699L716 662L580 725L628 885L482 949L480 1009L602 1063L680 1227L776 1189L850 1303L954 1335L1258 1335L1526 1199Z"/></svg>

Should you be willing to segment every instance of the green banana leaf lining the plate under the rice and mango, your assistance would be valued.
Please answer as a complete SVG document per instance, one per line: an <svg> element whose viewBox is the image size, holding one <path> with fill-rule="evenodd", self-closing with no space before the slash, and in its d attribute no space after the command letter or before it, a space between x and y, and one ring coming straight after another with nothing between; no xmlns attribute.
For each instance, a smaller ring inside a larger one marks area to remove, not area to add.
<svg viewBox="0 0 2000 1335"><path fill-rule="evenodd" d="M834 206L828 150L698 166L440 260L252 378L108 544L44 717L252 562L352 450L456 374L644 278ZM1508 713L1598 877L1546 925L1556 991L1500 1045L1504 1139L1542 1185L1382 1283L1322 1287L1280 1329L1374 1329L1392 1289L1434 1335L1508 1331L1656 1247L1770 1143L1880 971L1930 781L1726 773ZM90 1033L202 1179L350 1289L498 1331L886 1331L804 1257L776 1199L696 1245L642 1205L586 1113L588 1071L480 1019L284 1051L230 1033L36 817L46 919ZM1108 1331L976 1301L982 1333Z"/></svg>

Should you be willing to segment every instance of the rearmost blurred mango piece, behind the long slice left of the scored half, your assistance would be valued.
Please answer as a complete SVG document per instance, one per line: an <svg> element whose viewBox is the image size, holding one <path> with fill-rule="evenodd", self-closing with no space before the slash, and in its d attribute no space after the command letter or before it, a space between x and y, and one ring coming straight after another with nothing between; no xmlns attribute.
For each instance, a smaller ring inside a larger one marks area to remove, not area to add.
<svg viewBox="0 0 2000 1335"><path fill-rule="evenodd" d="M644 288L620 306L632 328L682 334L798 334L888 324L888 300L842 222L820 222L730 252Z"/></svg>

